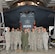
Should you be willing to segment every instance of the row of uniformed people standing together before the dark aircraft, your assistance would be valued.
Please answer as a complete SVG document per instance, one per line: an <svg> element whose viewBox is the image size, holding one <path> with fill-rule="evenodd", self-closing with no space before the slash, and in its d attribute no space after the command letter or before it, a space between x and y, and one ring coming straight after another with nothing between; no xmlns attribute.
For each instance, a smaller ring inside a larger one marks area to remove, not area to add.
<svg viewBox="0 0 55 54"><path fill-rule="evenodd" d="M6 30L5 40L7 52L9 49L16 51L17 48L23 51L48 50L49 36L46 28L34 26L32 29L24 28L23 30L19 30L19 28L12 28L10 31L10 28L7 27Z"/></svg>

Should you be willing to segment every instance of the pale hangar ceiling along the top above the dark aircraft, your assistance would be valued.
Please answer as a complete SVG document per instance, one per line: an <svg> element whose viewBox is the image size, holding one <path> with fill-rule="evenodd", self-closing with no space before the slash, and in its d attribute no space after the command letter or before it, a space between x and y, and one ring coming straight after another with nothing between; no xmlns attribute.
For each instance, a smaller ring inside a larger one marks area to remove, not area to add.
<svg viewBox="0 0 55 54"><path fill-rule="evenodd" d="M10 8L11 5L13 5L15 2L21 2L21 1L28 1L28 0L3 0L2 6L3 8ZM55 6L55 0L29 0L29 1L40 1L42 2L46 7Z"/></svg>

